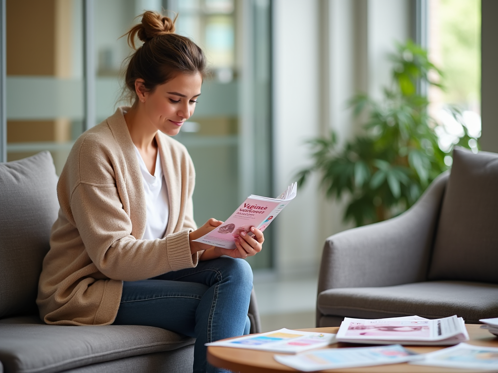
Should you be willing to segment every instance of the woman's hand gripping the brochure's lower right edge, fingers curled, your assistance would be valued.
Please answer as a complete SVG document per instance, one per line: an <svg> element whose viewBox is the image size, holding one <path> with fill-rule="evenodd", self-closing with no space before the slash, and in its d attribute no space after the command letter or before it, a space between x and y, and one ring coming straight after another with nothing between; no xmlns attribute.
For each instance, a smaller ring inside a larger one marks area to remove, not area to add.
<svg viewBox="0 0 498 373"><path fill-rule="evenodd" d="M256 255L262 249L264 235L263 232L254 227L251 227L250 231L253 233L252 237L249 236L249 233L241 232L241 235L235 239L235 249L225 249L222 247L212 246L202 254L200 260L215 259L221 257L222 255L227 255L232 258L246 259L247 257Z"/></svg>

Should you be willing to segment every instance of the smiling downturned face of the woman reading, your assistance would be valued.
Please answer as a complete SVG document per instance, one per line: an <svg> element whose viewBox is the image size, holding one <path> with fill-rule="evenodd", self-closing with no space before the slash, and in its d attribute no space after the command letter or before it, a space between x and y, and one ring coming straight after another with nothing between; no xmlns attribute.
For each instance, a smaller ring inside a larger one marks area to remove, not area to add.
<svg viewBox="0 0 498 373"><path fill-rule="evenodd" d="M144 93L145 113L159 131L174 136L194 113L201 94L201 74L178 74L170 81Z"/></svg>

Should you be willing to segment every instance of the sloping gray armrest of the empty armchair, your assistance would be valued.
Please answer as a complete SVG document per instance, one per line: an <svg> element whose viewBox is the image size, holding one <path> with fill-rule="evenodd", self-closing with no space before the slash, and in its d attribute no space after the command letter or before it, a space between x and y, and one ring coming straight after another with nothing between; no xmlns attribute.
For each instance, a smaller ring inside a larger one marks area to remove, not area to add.
<svg viewBox="0 0 498 373"><path fill-rule="evenodd" d="M426 280L449 172L403 214L327 238L318 294L338 287L392 286Z"/></svg>

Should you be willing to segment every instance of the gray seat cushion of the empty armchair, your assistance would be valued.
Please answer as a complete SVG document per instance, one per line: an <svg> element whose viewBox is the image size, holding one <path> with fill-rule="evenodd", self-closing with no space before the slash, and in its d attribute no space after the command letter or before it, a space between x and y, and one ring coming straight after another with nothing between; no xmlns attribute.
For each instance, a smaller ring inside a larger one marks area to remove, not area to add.
<svg viewBox="0 0 498 373"><path fill-rule="evenodd" d="M466 281L426 281L396 286L322 291L323 315L383 318L418 315L430 319L458 315L467 323L498 315L498 285Z"/></svg>

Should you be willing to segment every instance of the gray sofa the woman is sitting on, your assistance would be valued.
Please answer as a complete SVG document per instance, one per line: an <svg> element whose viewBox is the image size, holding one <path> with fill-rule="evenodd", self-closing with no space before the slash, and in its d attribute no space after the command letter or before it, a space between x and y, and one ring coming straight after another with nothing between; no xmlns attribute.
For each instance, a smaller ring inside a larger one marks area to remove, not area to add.
<svg viewBox="0 0 498 373"><path fill-rule="evenodd" d="M54 326L35 304L57 217L50 153L0 163L0 373L192 372L194 339L137 326ZM251 333L259 332L254 293Z"/></svg>

